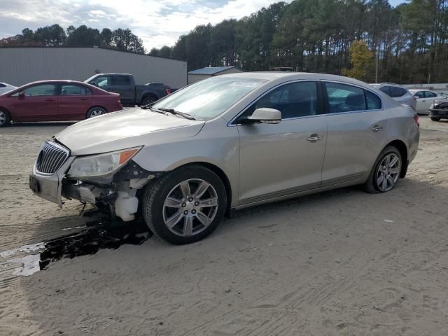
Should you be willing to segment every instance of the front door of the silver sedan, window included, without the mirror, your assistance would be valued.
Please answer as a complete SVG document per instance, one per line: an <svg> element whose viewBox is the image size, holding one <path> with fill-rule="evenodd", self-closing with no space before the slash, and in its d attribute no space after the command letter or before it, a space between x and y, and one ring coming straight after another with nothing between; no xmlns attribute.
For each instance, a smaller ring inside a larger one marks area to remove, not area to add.
<svg viewBox="0 0 448 336"><path fill-rule="evenodd" d="M277 87L238 119L269 107L282 113L279 124L238 125L239 202L248 204L318 188L327 125L318 83Z"/></svg>

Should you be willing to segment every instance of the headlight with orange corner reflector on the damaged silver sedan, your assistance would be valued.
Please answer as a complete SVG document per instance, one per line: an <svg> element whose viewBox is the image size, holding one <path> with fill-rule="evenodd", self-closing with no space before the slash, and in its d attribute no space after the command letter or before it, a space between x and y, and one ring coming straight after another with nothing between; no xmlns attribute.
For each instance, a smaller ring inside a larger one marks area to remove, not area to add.
<svg viewBox="0 0 448 336"><path fill-rule="evenodd" d="M68 175L71 178L82 178L111 174L131 160L140 149L141 147L129 148L123 151L76 158L71 164Z"/></svg>

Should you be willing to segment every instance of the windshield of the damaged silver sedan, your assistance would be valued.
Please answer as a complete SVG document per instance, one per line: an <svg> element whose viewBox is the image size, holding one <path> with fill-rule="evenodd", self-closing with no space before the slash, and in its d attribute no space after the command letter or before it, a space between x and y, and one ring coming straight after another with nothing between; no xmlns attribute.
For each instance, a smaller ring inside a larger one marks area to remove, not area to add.
<svg viewBox="0 0 448 336"><path fill-rule="evenodd" d="M212 77L169 95L153 107L174 109L196 119L209 120L265 82L253 78Z"/></svg>

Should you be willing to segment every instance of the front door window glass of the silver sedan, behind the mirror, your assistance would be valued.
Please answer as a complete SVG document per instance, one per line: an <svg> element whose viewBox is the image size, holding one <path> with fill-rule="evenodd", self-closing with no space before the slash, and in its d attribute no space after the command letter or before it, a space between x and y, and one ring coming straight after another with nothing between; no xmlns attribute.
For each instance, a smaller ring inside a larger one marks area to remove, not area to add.
<svg viewBox="0 0 448 336"><path fill-rule="evenodd" d="M296 82L277 87L253 103L243 118L263 107L279 110L282 120L314 116L317 114L317 83Z"/></svg>

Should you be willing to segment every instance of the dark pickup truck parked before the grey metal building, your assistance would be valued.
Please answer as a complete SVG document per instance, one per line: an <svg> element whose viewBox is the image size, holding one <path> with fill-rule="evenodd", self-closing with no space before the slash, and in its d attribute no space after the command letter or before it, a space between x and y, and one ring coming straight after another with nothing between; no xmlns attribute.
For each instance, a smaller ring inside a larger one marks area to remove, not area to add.
<svg viewBox="0 0 448 336"><path fill-rule="evenodd" d="M134 76L128 73L99 73L84 80L84 83L119 93L123 105L147 105L171 93L169 85L162 83L136 85Z"/></svg>

